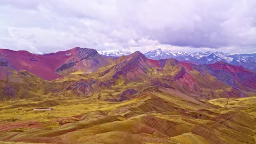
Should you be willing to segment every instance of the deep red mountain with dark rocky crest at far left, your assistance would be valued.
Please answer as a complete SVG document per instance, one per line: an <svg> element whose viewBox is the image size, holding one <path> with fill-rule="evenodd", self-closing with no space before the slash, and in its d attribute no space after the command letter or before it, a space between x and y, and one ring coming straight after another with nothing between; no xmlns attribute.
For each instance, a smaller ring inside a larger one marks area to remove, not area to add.
<svg viewBox="0 0 256 144"><path fill-rule="evenodd" d="M76 47L45 55L0 49L0 80L6 77L7 70L27 70L45 80L54 80L78 69L96 71L97 68L108 64L109 59L89 48Z"/></svg>

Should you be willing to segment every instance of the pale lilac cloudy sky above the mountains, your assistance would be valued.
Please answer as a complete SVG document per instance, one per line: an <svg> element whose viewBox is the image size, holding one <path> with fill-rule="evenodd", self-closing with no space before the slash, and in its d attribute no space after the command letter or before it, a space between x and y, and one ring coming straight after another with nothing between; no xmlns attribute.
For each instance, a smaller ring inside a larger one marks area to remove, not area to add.
<svg viewBox="0 0 256 144"><path fill-rule="evenodd" d="M0 48L256 53L256 0L0 0Z"/></svg>

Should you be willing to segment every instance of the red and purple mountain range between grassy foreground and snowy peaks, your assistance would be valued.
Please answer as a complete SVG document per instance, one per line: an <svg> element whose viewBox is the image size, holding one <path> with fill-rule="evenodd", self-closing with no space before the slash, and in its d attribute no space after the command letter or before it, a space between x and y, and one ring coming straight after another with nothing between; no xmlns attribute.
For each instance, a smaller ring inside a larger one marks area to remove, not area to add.
<svg viewBox="0 0 256 144"><path fill-rule="evenodd" d="M63 83L65 78L73 77L76 73L86 75L86 80L82 83L79 79L75 86L64 85L64 87L66 89L78 87L81 90L82 86L83 91L78 92L79 95L96 93L96 91L99 93L102 87L110 89L128 87L141 91L147 86L160 86L175 88L201 99L212 99L250 96L250 93L256 90L256 72L224 61L194 64L173 58L153 60L139 51L112 59L100 55L94 49L79 47L45 55L6 49L1 49L0 52L0 80L4 80L1 86L1 99L10 98L10 93L11 96L19 97L22 93L21 89L15 89L16 87L12 87L11 84L24 83L27 75L46 80L45 83L52 80ZM95 88L90 88L91 84L95 85ZM121 100L123 99L115 98L115 101Z"/></svg>

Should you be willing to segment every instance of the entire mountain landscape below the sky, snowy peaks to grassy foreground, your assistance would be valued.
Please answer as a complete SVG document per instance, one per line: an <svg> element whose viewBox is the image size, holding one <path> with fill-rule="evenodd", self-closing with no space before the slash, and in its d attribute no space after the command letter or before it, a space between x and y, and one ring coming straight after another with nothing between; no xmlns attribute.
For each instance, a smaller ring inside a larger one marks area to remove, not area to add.
<svg viewBox="0 0 256 144"><path fill-rule="evenodd" d="M256 72L227 61L126 54L79 47L43 55L0 49L0 141L256 142ZM203 55L217 56L193 54ZM51 110L33 110L39 108Z"/></svg>

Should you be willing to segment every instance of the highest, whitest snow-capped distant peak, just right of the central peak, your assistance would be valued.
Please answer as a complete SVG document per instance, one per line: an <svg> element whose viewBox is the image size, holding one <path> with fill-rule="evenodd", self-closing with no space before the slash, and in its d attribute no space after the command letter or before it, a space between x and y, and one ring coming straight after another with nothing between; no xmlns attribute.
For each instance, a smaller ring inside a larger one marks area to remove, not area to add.
<svg viewBox="0 0 256 144"><path fill-rule="evenodd" d="M144 55L147 56L147 58L149 59L169 59L178 56L187 56L188 54L189 53L187 52L175 53L170 50L162 50L161 48L144 53Z"/></svg>

